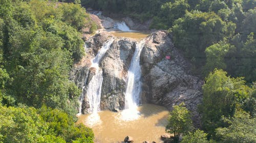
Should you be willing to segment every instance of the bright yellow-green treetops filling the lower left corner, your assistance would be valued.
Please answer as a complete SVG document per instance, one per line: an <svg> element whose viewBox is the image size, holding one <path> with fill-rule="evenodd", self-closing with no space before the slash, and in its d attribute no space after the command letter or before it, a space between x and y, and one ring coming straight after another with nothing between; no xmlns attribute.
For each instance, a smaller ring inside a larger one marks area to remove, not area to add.
<svg viewBox="0 0 256 143"><path fill-rule="evenodd" d="M58 109L42 106L0 105L0 142L93 142L92 129L75 125L72 117Z"/></svg>

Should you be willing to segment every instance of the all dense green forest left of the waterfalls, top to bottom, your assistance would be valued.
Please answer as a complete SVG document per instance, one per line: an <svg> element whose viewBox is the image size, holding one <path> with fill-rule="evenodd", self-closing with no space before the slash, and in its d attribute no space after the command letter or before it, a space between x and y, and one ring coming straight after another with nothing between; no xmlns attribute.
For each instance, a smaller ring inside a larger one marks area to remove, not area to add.
<svg viewBox="0 0 256 143"><path fill-rule="evenodd" d="M69 80L92 25L80 4L0 1L0 142L93 142Z"/></svg>

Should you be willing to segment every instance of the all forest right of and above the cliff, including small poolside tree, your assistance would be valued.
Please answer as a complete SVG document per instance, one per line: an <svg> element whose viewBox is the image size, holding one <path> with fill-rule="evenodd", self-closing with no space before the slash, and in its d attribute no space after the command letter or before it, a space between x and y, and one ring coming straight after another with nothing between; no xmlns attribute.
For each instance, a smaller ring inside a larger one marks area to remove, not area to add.
<svg viewBox="0 0 256 143"><path fill-rule="evenodd" d="M151 19L150 28L168 30L175 46L193 63L194 73L206 77L199 105L201 130L183 130L190 126L181 116L189 113L175 106L166 126L167 132L175 133L174 142L180 133L182 143L256 142L255 0L81 0L81 4L105 15Z"/></svg>

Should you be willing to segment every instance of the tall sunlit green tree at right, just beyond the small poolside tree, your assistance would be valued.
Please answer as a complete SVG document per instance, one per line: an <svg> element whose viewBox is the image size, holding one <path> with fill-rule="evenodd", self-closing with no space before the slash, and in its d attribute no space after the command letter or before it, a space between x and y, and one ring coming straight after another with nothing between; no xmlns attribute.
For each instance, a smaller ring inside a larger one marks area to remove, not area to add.
<svg viewBox="0 0 256 143"><path fill-rule="evenodd" d="M223 70L215 69L203 85L202 127L209 135L215 135L217 127L227 126L221 118L232 117L236 109L244 108L244 102L252 97L252 88L242 78L226 76Z"/></svg>

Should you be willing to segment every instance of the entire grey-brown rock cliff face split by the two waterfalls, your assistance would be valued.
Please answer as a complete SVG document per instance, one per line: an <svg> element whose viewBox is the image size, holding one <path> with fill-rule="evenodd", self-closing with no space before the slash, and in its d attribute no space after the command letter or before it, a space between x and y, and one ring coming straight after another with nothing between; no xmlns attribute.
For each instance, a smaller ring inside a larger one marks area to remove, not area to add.
<svg viewBox="0 0 256 143"><path fill-rule="evenodd" d="M113 37L108 33L99 33L87 42L87 64L81 64L73 69L71 79L79 88L86 87L93 76L89 70L92 59L105 41ZM189 63L173 46L166 31L159 31L145 38L140 65L142 69L142 103L154 103L172 110L172 106L185 102L192 111L195 124L199 116L197 105L201 102L201 87L203 81L193 76L189 71ZM100 62L103 71L101 90L101 110L119 110L124 108L124 93L126 89L127 71L135 51L136 41L128 38L116 38L110 49L106 51ZM166 60L165 56L170 56ZM86 89L86 88L84 88ZM85 94L86 91L83 92ZM82 112L86 113L88 100L84 98Z"/></svg>

